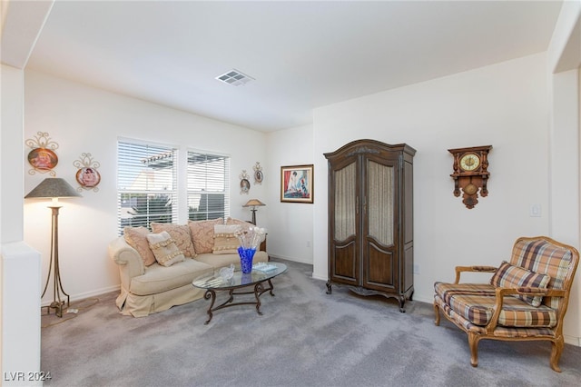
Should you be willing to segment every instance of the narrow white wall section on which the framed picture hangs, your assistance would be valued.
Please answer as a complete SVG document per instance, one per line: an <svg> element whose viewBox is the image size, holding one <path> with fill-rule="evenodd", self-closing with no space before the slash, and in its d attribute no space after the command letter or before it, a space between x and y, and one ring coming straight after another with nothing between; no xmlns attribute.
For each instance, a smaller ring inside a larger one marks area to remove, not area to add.
<svg viewBox="0 0 581 387"><path fill-rule="evenodd" d="M281 166L313 164L312 136L312 125L273 132L267 136L268 221L271 231L277 231L269 232L268 251L273 257L302 263L313 262L313 204L281 203ZM327 174L313 174L313 178L314 182L326 182ZM319 201L320 193L315 191L313 194L314 202Z"/></svg>

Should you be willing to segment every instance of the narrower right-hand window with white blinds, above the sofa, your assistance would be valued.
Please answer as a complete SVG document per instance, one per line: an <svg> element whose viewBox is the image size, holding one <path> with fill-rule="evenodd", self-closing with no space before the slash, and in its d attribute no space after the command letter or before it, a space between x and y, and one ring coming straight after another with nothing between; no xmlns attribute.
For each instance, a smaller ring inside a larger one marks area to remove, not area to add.
<svg viewBox="0 0 581 387"><path fill-rule="evenodd" d="M188 152L188 219L202 221L230 215L230 158Z"/></svg>

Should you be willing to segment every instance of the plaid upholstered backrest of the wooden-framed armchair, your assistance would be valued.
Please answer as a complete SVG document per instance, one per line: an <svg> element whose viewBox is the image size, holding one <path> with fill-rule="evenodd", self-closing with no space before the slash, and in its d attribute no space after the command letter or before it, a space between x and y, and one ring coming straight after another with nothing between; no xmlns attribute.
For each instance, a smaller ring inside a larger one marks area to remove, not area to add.
<svg viewBox="0 0 581 387"><path fill-rule="evenodd" d="M576 248L558 243L547 236L518 238L510 263L551 277L547 288L566 292L565 297L545 297L543 303L557 311L568 302L571 284L579 262ZM564 311L561 311L564 312Z"/></svg>

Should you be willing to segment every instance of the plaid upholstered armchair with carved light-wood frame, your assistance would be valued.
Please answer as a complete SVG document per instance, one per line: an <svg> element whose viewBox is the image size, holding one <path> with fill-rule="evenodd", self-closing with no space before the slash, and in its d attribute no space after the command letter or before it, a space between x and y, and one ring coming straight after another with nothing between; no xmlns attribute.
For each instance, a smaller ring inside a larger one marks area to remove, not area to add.
<svg viewBox="0 0 581 387"><path fill-rule="evenodd" d="M579 253L546 236L519 238L510 262L491 266L458 266L454 283L435 283L434 312L440 311L468 334L470 363L478 366L482 339L551 342L551 368L565 344L563 319ZM460 283L463 272L493 273L489 283Z"/></svg>

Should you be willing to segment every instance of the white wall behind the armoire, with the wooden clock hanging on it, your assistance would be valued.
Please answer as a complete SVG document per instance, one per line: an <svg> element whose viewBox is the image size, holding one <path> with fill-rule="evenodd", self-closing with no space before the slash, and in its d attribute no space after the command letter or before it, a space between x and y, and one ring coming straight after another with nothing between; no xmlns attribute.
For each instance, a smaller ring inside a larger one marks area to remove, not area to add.
<svg viewBox="0 0 581 387"><path fill-rule="evenodd" d="M415 299L431 303L433 283L458 264L497 265L518 236L548 233L547 69L545 55L479 68L314 112L316 174L323 153L358 138L407 143L414 158ZM493 145L489 194L468 210L452 193L450 148ZM316 183L314 274L327 276L327 187Z"/></svg>

